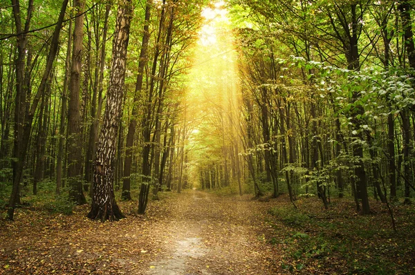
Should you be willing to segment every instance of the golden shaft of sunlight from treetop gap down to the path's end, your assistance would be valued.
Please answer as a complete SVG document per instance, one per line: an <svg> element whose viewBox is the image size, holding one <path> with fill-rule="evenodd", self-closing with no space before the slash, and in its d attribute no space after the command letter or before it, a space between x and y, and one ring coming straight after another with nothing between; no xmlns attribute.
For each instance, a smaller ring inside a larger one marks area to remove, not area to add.
<svg viewBox="0 0 415 275"><path fill-rule="evenodd" d="M241 93L234 37L223 3L205 8L202 16L185 97L192 129L186 145L189 175L199 188L231 186L236 191Z"/></svg>

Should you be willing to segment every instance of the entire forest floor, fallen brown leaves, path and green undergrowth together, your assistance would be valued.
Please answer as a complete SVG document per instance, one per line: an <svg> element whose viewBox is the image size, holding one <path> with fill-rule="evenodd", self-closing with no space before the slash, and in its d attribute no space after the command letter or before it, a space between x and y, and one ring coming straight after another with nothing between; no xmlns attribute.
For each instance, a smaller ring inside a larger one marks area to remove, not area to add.
<svg viewBox="0 0 415 275"><path fill-rule="evenodd" d="M268 201L202 191L161 193L147 214L96 222L33 207L0 220L0 274L415 274L413 206L357 215L350 200L328 211L315 198Z"/></svg>

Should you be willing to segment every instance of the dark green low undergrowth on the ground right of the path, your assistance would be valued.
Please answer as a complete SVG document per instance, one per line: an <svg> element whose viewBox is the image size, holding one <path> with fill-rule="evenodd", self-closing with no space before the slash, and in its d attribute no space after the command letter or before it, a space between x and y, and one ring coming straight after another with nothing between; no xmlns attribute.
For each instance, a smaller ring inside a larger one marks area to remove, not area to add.
<svg viewBox="0 0 415 275"><path fill-rule="evenodd" d="M413 207L394 205L397 233L380 203L371 202L369 216L356 214L348 199L333 200L327 211L316 198L299 200L297 207L284 203L268 211L274 228L268 243L284 251L287 272L415 274Z"/></svg>

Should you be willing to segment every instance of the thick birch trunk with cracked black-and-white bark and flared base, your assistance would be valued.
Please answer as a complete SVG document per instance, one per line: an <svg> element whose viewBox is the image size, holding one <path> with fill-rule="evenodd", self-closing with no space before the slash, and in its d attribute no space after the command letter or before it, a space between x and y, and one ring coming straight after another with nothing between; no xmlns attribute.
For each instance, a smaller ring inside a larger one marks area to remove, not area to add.
<svg viewBox="0 0 415 275"><path fill-rule="evenodd" d="M95 160L92 207L88 214L88 218L94 220L104 221L124 218L114 196L113 169L116 158L118 125L122 112L131 12L131 1L120 1L116 30L113 35L113 57L107 91L107 104Z"/></svg>

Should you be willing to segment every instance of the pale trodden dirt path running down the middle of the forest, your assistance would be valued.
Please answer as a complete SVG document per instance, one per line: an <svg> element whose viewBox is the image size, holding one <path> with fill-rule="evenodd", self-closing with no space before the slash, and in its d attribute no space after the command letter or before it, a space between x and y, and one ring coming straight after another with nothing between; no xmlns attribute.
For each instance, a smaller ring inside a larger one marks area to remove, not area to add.
<svg viewBox="0 0 415 275"><path fill-rule="evenodd" d="M258 236L261 203L192 191L167 223L168 244L148 274L271 274L273 253ZM172 205L175 207L175 205Z"/></svg>

